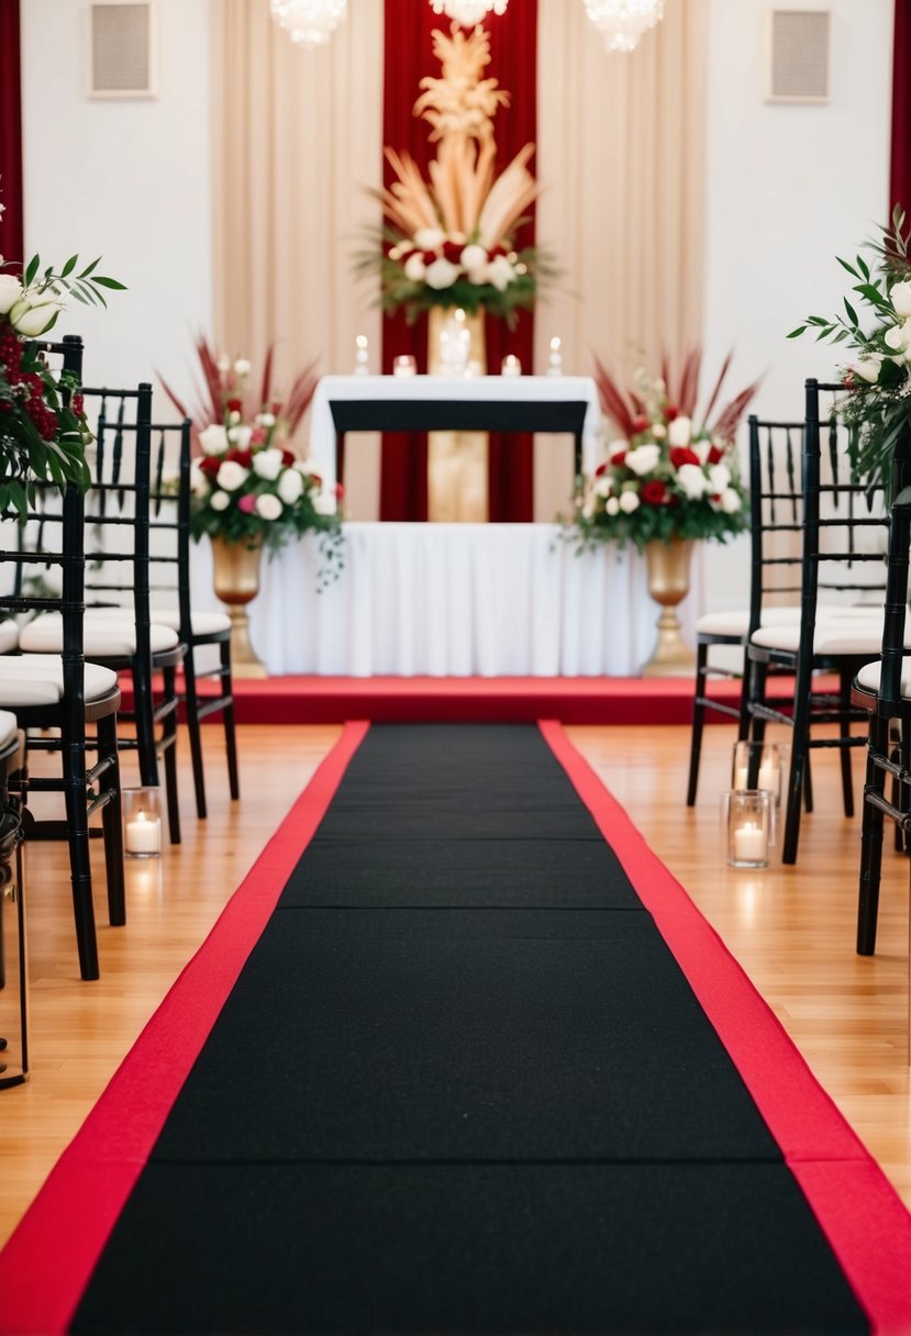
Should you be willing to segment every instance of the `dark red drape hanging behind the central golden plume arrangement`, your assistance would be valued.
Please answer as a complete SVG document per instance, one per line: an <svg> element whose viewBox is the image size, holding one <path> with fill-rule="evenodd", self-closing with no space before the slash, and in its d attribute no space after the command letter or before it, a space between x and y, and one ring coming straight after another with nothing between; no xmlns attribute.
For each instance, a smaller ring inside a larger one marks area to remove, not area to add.
<svg viewBox="0 0 911 1336"><path fill-rule="evenodd" d="M427 142L430 127L413 115L425 75L438 75L439 61L433 55L433 31L446 31L449 20L435 15L429 0L385 0L385 72L383 72L383 144L407 150L421 168L435 156ZM485 76L497 79L510 94L510 106L501 107L494 120L497 168L506 163L529 140L537 126L537 0L513 0L505 15L492 17L490 64ZM534 160L530 164L534 171ZM391 172L386 166L383 179ZM518 243L534 242L533 220L522 228ZM522 311L518 325L509 330L502 321L486 322L488 366L500 370L506 353L516 353L526 371L532 370L534 339L533 314ZM427 322L421 318L407 326L399 313L383 319L382 367L391 371L393 357L413 353L418 370L426 370ZM532 441L529 437L490 437L489 497L492 520L532 518ZM427 453L426 440L387 433L383 438L379 513L383 520L426 520Z"/></svg>

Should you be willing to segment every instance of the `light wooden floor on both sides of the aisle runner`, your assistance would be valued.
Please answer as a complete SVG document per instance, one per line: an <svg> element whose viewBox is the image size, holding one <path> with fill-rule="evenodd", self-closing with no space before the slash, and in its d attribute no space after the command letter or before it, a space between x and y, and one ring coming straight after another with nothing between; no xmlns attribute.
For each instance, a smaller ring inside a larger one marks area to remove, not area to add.
<svg viewBox="0 0 911 1336"><path fill-rule="evenodd" d="M206 728L210 816L202 823L192 816L183 748L183 843L166 848L160 863L130 864L128 923L102 926L98 982L77 977L64 847L29 848L32 1074L27 1085L0 1092L0 1242L338 732L331 725L242 728L243 794L231 804L220 731ZM804 819L797 867L747 872L728 868L721 848L719 795L729 772L729 729L708 729L695 810L683 800L687 728L572 727L568 733L728 943L911 1205L907 859L891 850L887 855L879 950L859 959L859 822L840 812L828 754L813 770L816 811ZM859 763L856 771L859 779ZM104 925L100 847L94 854ZM3 1006L9 991L0 993ZM0 1010L0 1034L3 1026ZM254 1063L255 1055L246 1061Z"/></svg>

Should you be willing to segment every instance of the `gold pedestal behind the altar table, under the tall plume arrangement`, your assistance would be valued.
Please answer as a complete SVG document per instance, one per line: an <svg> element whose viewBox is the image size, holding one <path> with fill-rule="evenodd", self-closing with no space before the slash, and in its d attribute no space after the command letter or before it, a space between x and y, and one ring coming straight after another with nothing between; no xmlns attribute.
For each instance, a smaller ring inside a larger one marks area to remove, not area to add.
<svg viewBox="0 0 911 1336"><path fill-rule="evenodd" d="M427 321L427 371L430 375L450 374L456 365L446 361L443 333L451 327L454 311L431 306ZM477 369L484 375L488 355L484 334L484 311L465 315L462 322L468 335L468 371ZM488 433L486 432L429 432L427 433L427 520L438 522L462 521L484 524L488 518Z"/></svg>

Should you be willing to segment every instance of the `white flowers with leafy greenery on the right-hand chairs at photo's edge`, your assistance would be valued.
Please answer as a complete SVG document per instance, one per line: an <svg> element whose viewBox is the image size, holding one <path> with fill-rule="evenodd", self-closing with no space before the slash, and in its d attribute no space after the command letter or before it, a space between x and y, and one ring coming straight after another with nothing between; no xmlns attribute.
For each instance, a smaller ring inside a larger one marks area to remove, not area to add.
<svg viewBox="0 0 911 1336"><path fill-rule="evenodd" d="M839 410L850 430L852 469L858 480L866 480L871 490L882 486L887 497L892 490L895 445L902 432L911 429L911 232L904 224L904 212L896 204L891 226L866 243L878 257L875 271L863 255L854 263L836 257L855 279L852 291L870 309L868 331L846 297L844 315L809 315L788 334L799 338L812 329L817 341L831 339L852 350L839 370L846 389Z"/></svg>

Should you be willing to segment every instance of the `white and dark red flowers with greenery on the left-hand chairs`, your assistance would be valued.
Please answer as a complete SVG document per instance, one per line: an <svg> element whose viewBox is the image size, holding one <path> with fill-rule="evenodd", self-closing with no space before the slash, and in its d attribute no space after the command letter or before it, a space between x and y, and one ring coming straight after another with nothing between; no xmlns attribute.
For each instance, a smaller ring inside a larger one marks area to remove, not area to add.
<svg viewBox="0 0 911 1336"><path fill-rule="evenodd" d="M98 263L77 273L79 257L72 255L60 273L41 273L35 255L20 278L0 257L0 512L24 516L36 482L88 488L85 448L92 433L79 379L52 371L32 341L52 329L67 295L104 306L103 289L123 290L123 283L95 273Z"/></svg>

